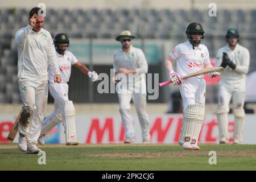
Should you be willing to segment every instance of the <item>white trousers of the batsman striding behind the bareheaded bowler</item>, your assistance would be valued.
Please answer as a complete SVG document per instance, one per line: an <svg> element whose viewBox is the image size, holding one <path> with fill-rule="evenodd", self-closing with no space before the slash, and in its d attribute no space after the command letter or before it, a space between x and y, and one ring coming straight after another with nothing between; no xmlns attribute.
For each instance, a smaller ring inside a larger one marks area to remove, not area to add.
<svg viewBox="0 0 256 182"><path fill-rule="evenodd" d="M52 121L52 118L58 117L59 115L63 116L65 102L68 100L68 84L67 83L51 83L49 84L49 92L54 98L54 110L47 116L47 121ZM65 117L63 119L63 126L65 127Z"/></svg>

